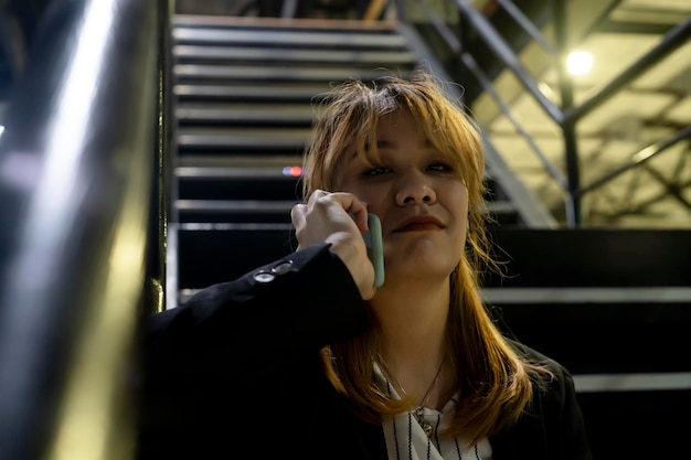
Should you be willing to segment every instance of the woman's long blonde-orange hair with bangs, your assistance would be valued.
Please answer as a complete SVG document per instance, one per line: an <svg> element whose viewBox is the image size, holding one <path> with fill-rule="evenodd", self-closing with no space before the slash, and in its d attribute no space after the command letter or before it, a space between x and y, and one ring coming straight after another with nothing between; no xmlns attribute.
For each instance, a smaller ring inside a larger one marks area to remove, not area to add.
<svg viewBox="0 0 691 460"><path fill-rule="evenodd" d="M490 256L486 225L490 221L485 193L485 156L479 130L449 97L442 82L418 69L406 79L386 76L372 85L348 81L326 95L319 107L304 159L302 196L317 189L337 190L339 164L353 150L376 162L378 120L406 109L421 124L427 139L457 162L468 189L466 254L450 274L448 353L456 363L460 400L447 430L476 442L515 420L531 400L533 387L549 371L517 352L496 327L479 296L480 275L499 272ZM368 333L322 350L326 373L362 419L379 424L382 417L410 408L373 383L379 327L372 318Z"/></svg>

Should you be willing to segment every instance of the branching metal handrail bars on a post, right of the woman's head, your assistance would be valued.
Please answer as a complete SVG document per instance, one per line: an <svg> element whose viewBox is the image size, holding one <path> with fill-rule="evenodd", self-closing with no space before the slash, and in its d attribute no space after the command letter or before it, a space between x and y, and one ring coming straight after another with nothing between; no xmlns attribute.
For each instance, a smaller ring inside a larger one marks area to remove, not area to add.
<svg viewBox="0 0 691 460"><path fill-rule="evenodd" d="M546 159L546 157L540 151L540 149L536 148L535 142L529 141L528 143L533 149L533 152L539 157L546 172L552 176L552 179L555 180L555 182L563 189L563 191L566 192L567 197L565 204L567 226L580 226L580 203L583 199L583 195L592 190L599 188L605 182L614 180L623 172L638 164L641 164L644 161L638 161L634 158L631 162L627 163L616 171L613 171L610 174L600 178L593 184L582 186L580 184L578 152L575 139L575 125L586 114L616 95L618 90L620 90L626 84L630 83L634 78L640 76L644 72L650 68L650 66L660 62L672 51L683 45L691 36L691 19L671 29L662 38L657 46L651 49L641 58L632 63L620 75L614 78L608 85L603 87L597 94L593 95L589 99L581 103L580 105L575 105L573 103L571 83L568 78L564 75L562 68L563 65L560 61L563 57L563 52L566 46L566 24L564 21L565 12L563 9L563 2L561 0L555 0L552 3L554 15L553 20L556 22L555 29L557 30L557 43L552 46L545 44L545 40L542 34L539 33L538 29L534 25L531 25L531 23L528 21L528 18L524 17L510 0L498 1L498 4L504 8L504 11L509 13L509 15L515 21L515 23L520 25L523 31L529 36L531 36L543 50L545 50L548 54L552 56L552 58L555 60L556 66L560 69L560 88L562 90L562 106L557 107L542 94L542 92L538 88L534 78L520 64L515 53L508 46L508 44L501 39L500 34L493 29L489 21L485 19L485 17L481 14L480 11L478 11L476 7L474 7L467 0L454 0L453 3L458 8L459 13L463 15L466 22L475 31L478 32L478 34L488 44L491 51L495 52L497 57L504 64L508 69L513 73L517 79L527 89L528 94L532 96L538 105L541 106L543 110L548 114L548 116L562 129L564 137L564 154L567 174L566 180L561 176L561 173L559 173L556 168ZM480 86L493 98L501 113L507 116L509 121L515 126L521 136L528 136L528 132L523 130L522 127L518 124L515 117L511 116L510 109L508 108L509 105L500 100L499 95L493 90L489 77L485 75L482 69L476 64L472 56L469 55L466 50L464 50L463 39L456 36L454 34L454 31L451 31L448 26L446 26L446 24L439 21L438 18L435 18L430 9L423 8L423 11L425 11L429 15L430 24L435 28L439 36L446 42L449 49L457 54L458 61L464 63L465 68L474 75ZM464 84L464 82L459 83L461 85ZM669 141L663 140L659 143L673 143L678 140L678 138L687 137L688 135L685 130L682 130L677 135L673 135ZM666 148L656 150L656 156L665 150Z"/></svg>

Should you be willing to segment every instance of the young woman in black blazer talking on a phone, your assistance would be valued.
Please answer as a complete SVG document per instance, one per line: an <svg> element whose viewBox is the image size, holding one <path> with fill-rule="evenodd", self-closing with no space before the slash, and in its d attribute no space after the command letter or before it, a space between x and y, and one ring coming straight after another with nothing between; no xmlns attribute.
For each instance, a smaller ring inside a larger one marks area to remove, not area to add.
<svg viewBox="0 0 691 460"><path fill-rule="evenodd" d="M336 88L304 169L294 254L148 320L139 458L589 459L568 372L480 300L481 140L443 86Z"/></svg>

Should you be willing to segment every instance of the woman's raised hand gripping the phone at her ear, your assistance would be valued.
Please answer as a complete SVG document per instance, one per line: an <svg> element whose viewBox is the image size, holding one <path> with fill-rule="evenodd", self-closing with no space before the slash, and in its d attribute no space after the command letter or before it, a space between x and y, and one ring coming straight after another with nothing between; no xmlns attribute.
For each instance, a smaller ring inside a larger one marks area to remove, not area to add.
<svg viewBox="0 0 691 460"><path fill-rule="evenodd" d="M353 220L354 217L354 220ZM360 232L368 229L368 206L352 193L316 190L307 204L290 211L298 250L318 243L330 243L360 289L363 299L374 297L374 267L368 258Z"/></svg>

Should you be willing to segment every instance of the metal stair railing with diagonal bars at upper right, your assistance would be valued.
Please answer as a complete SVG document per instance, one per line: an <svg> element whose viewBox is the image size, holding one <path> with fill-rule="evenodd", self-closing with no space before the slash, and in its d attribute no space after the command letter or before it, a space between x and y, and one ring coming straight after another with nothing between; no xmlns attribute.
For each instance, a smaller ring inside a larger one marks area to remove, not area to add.
<svg viewBox="0 0 691 460"><path fill-rule="evenodd" d="M631 152L630 161L621 165L613 172L603 174L589 184L581 184L580 154L576 139L576 126L587 114L599 107L607 100L617 95L627 84L642 75L644 72L660 63L665 57L673 51L681 47L691 39L691 18L669 30L649 52L638 58L636 62L625 68L618 76L612 79L607 85L588 97L586 100L575 104L573 97L573 85L565 72L565 55L571 45L568 40L568 21L566 21L565 2L563 0L548 0L544 8L551 11L549 20L552 23L555 38L554 43L550 42L541 32L538 24L531 21L521 12L510 0L497 1L497 8L503 9L513 22L522 30L522 32L532 39L552 60L552 66L559 75L559 89L561 105L554 104L540 90L536 79L531 75L530 71L523 66L519 60L519 55L506 41L501 34L493 28L487 18L468 0L454 0L443 2L442 8L456 8L459 14L459 30L453 30L447 22L442 20L435 12L435 8L428 1L422 2L421 11L426 14L429 24L434 28L438 36L447 44L455 58L460 63L461 75L469 75L474 78L481 89L487 93L497 104L499 111L510 121L517 132L524 138L527 145L531 148L543 165L545 172L554 180L561 191L565 195L565 221L568 227L578 227L583 224L582 218L582 200L586 193L589 193L605 183L617 179L624 172L634 168L644 167L652 157L662 153L670 147L683 140L691 139L691 131L688 128L681 129L671 135L669 139L661 139L659 142L651 145L638 152ZM440 8L438 2L436 8ZM565 174L563 174L557 165L555 165L532 140L531 135L521 126L517 117L511 114L510 105L501 98L499 92L492 84L492 77L477 63L474 55L467 50L468 35L470 32L476 33L495 54L497 60L503 65L503 68L520 82L523 89L532 99L544 110L549 118L556 125L562 132L562 142L564 146L564 164ZM466 81L463 81L466 79ZM468 83L467 77L459 81L461 85ZM487 139L488 142L491 140ZM671 188L666 188L671 189ZM691 203L681 196L676 195L685 207L691 208Z"/></svg>

